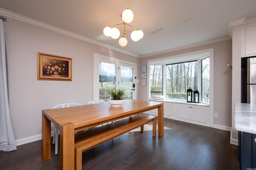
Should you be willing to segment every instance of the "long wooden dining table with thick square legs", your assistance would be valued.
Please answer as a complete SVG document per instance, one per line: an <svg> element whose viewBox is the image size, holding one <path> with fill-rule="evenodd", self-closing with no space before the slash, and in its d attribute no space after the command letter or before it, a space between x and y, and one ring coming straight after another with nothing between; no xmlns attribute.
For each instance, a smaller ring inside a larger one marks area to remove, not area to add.
<svg viewBox="0 0 256 170"><path fill-rule="evenodd" d="M74 133L124 117L158 109L158 136L164 136L164 104L125 100L121 107L107 102L42 110L42 160L51 158L51 122L60 129L60 169L74 169Z"/></svg>

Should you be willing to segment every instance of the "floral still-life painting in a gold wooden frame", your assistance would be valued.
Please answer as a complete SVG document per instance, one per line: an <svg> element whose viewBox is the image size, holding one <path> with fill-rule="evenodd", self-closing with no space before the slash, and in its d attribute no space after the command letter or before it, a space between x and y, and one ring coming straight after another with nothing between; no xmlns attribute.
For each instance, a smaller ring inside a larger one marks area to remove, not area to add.
<svg viewBox="0 0 256 170"><path fill-rule="evenodd" d="M38 53L37 79L72 81L72 59Z"/></svg>

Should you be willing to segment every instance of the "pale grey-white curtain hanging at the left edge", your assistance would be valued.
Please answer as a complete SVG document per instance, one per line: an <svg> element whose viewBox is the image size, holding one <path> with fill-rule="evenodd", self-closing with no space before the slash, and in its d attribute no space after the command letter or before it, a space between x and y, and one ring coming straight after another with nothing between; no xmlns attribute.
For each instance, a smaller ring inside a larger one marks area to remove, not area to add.
<svg viewBox="0 0 256 170"><path fill-rule="evenodd" d="M7 92L4 20L0 19L0 150L16 149Z"/></svg>

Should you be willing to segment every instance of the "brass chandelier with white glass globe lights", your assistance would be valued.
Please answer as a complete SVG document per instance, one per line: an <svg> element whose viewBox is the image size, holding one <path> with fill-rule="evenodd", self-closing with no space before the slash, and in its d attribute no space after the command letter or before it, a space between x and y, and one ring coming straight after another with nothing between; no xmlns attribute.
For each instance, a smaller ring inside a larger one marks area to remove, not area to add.
<svg viewBox="0 0 256 170"><path fill-rule="evenodd" d="M103 29L103 33L104 35L106 35L107 37L111 37L112 39L118 39L120 36L120 32L123 33L123 36L119 39L119 45L122 47L125 47L128 43L126 37L124 37L124 35L126 33L130 33L131 32L131 39L132 41L139 41L140 39L142 39L144 33L142 30L128 24L133 20L133 12L131 10L129 10L129 6L126 10L123 11L122 15L122 20L124 21L123 23L118 23L115 25L110 25L109 27L104 27ZM122 25L124 24L124 31L118 29L117 25ZM126 25L132 27L132 31L126 31Z"/></svg>

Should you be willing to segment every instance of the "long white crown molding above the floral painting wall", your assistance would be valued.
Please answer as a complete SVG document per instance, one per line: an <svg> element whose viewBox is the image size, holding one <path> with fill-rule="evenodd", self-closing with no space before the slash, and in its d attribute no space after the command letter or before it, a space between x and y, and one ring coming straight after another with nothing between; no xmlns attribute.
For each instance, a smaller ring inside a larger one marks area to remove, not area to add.
<svg viewBox="0 0 256 170"><path fill-rule="evenodd" d="M90 39L88 37L84 37L82 35L79 35L79 34L76 34L76 33L72 33L70 31L66 31L64 29L61 29L59 27L54 27L52 25L49 25L47 23L43 23L43 22L40 22L40 21L37 21L37 20L34 20L32 18L28 18L26 16L22 16L20 14L16 14L14 12L11 12L11 11L8 11L8 10L5 10L3 8L0 8L0 14L1 15L4 15L5 17L10 17L10 18L13 18L15 20L19 20L19 21L23 21L23 22L26 22L26 23L29 23L29 24L32 24L32 25L36 25L38 27L42 27L42 28L45 28L45 29L48 29L48 30L51 30L51 31L55 31L55 32L58 32L58 33L61 33L61 34L64 34L64 35L68 35L70 37L74 37L76 39L80 39L82 41L86 41L88 43L92 43L92 44L95 44L95 45L99 45L101 47L105 47L105 48L108 48L108 49L112 49L114 51L118 51L120 53L124 53L124 54L127 54L127 55L130 55L130 56L133 56L133 57L138 57L140 58L139 55L136 55L134 53L130 53L128 51L124 51L124 50L121 50L121 49L118 49L116 47L113 47L113 46L110 46L110 45L107 45L105 43L101 43L99 41L96 41L94 39Z"/></svg>

